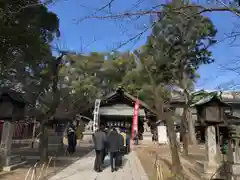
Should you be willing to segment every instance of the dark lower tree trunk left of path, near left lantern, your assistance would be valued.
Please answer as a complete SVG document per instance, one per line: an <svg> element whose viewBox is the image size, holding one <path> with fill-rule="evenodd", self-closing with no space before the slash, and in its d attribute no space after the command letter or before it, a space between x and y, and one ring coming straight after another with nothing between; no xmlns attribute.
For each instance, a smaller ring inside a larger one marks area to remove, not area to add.
<svg viewBox="0 0 240 180"><path fill-rule="evenodd" d="M39 152L40 152L41 164L48 162L48 132L47 132L47 126L44 122L41 122L40 124L41 135L40 135Z"/></svg>

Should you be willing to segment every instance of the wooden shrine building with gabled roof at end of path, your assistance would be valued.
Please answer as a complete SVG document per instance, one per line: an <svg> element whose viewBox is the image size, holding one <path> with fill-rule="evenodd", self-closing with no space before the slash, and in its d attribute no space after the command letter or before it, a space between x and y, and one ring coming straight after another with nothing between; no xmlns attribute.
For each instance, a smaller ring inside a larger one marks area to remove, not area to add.
<svg viewBox="0 0 240 180"><path fill-rule="evenodd" d="M109 127L123 127L128 130L132 127L133 109L137 98L118 88L112 94L101 100L99 108L99 123ZM144 131L144 122L155 119L154 111L139 100L139 133Z"/></svg>

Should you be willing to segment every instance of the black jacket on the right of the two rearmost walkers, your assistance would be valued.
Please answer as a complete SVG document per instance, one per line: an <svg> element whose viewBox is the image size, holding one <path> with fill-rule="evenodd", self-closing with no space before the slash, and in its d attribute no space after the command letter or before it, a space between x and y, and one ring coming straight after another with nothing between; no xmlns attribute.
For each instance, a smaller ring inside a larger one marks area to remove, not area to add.
<svg viewBox="0 0 240 180"><path fill-rule="evenodd" d="M117 152L120 149L120 138L116 131L111 131L107 137L108 151Z"/></svg>

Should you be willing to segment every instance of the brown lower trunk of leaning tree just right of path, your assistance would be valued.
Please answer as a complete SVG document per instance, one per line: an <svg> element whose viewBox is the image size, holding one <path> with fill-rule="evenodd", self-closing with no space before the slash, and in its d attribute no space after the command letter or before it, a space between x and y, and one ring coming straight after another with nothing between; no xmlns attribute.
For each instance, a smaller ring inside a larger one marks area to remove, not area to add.
<svg viewBox="0 0 240 180"><path fill-rule="evenodd" d="M172 156L172 173L177 175L182 171L182 164L179 158L178 144L176 139L176 132L174 129L174 122L172 118L166 120L167 132L169 138L169 145Z"/></svg>

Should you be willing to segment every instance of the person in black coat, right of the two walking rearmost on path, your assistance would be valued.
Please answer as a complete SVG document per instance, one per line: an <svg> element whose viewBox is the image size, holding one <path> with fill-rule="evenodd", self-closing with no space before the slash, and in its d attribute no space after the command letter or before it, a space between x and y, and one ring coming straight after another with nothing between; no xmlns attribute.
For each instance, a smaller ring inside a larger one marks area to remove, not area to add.
<svg viewBox="0 0 240 180"><path fill-rule="evenodd" d="M108 151L110 153L111 171L118 170L117 156L120 148L120 138L116 128L113 128L107 137Z"/></svg>

